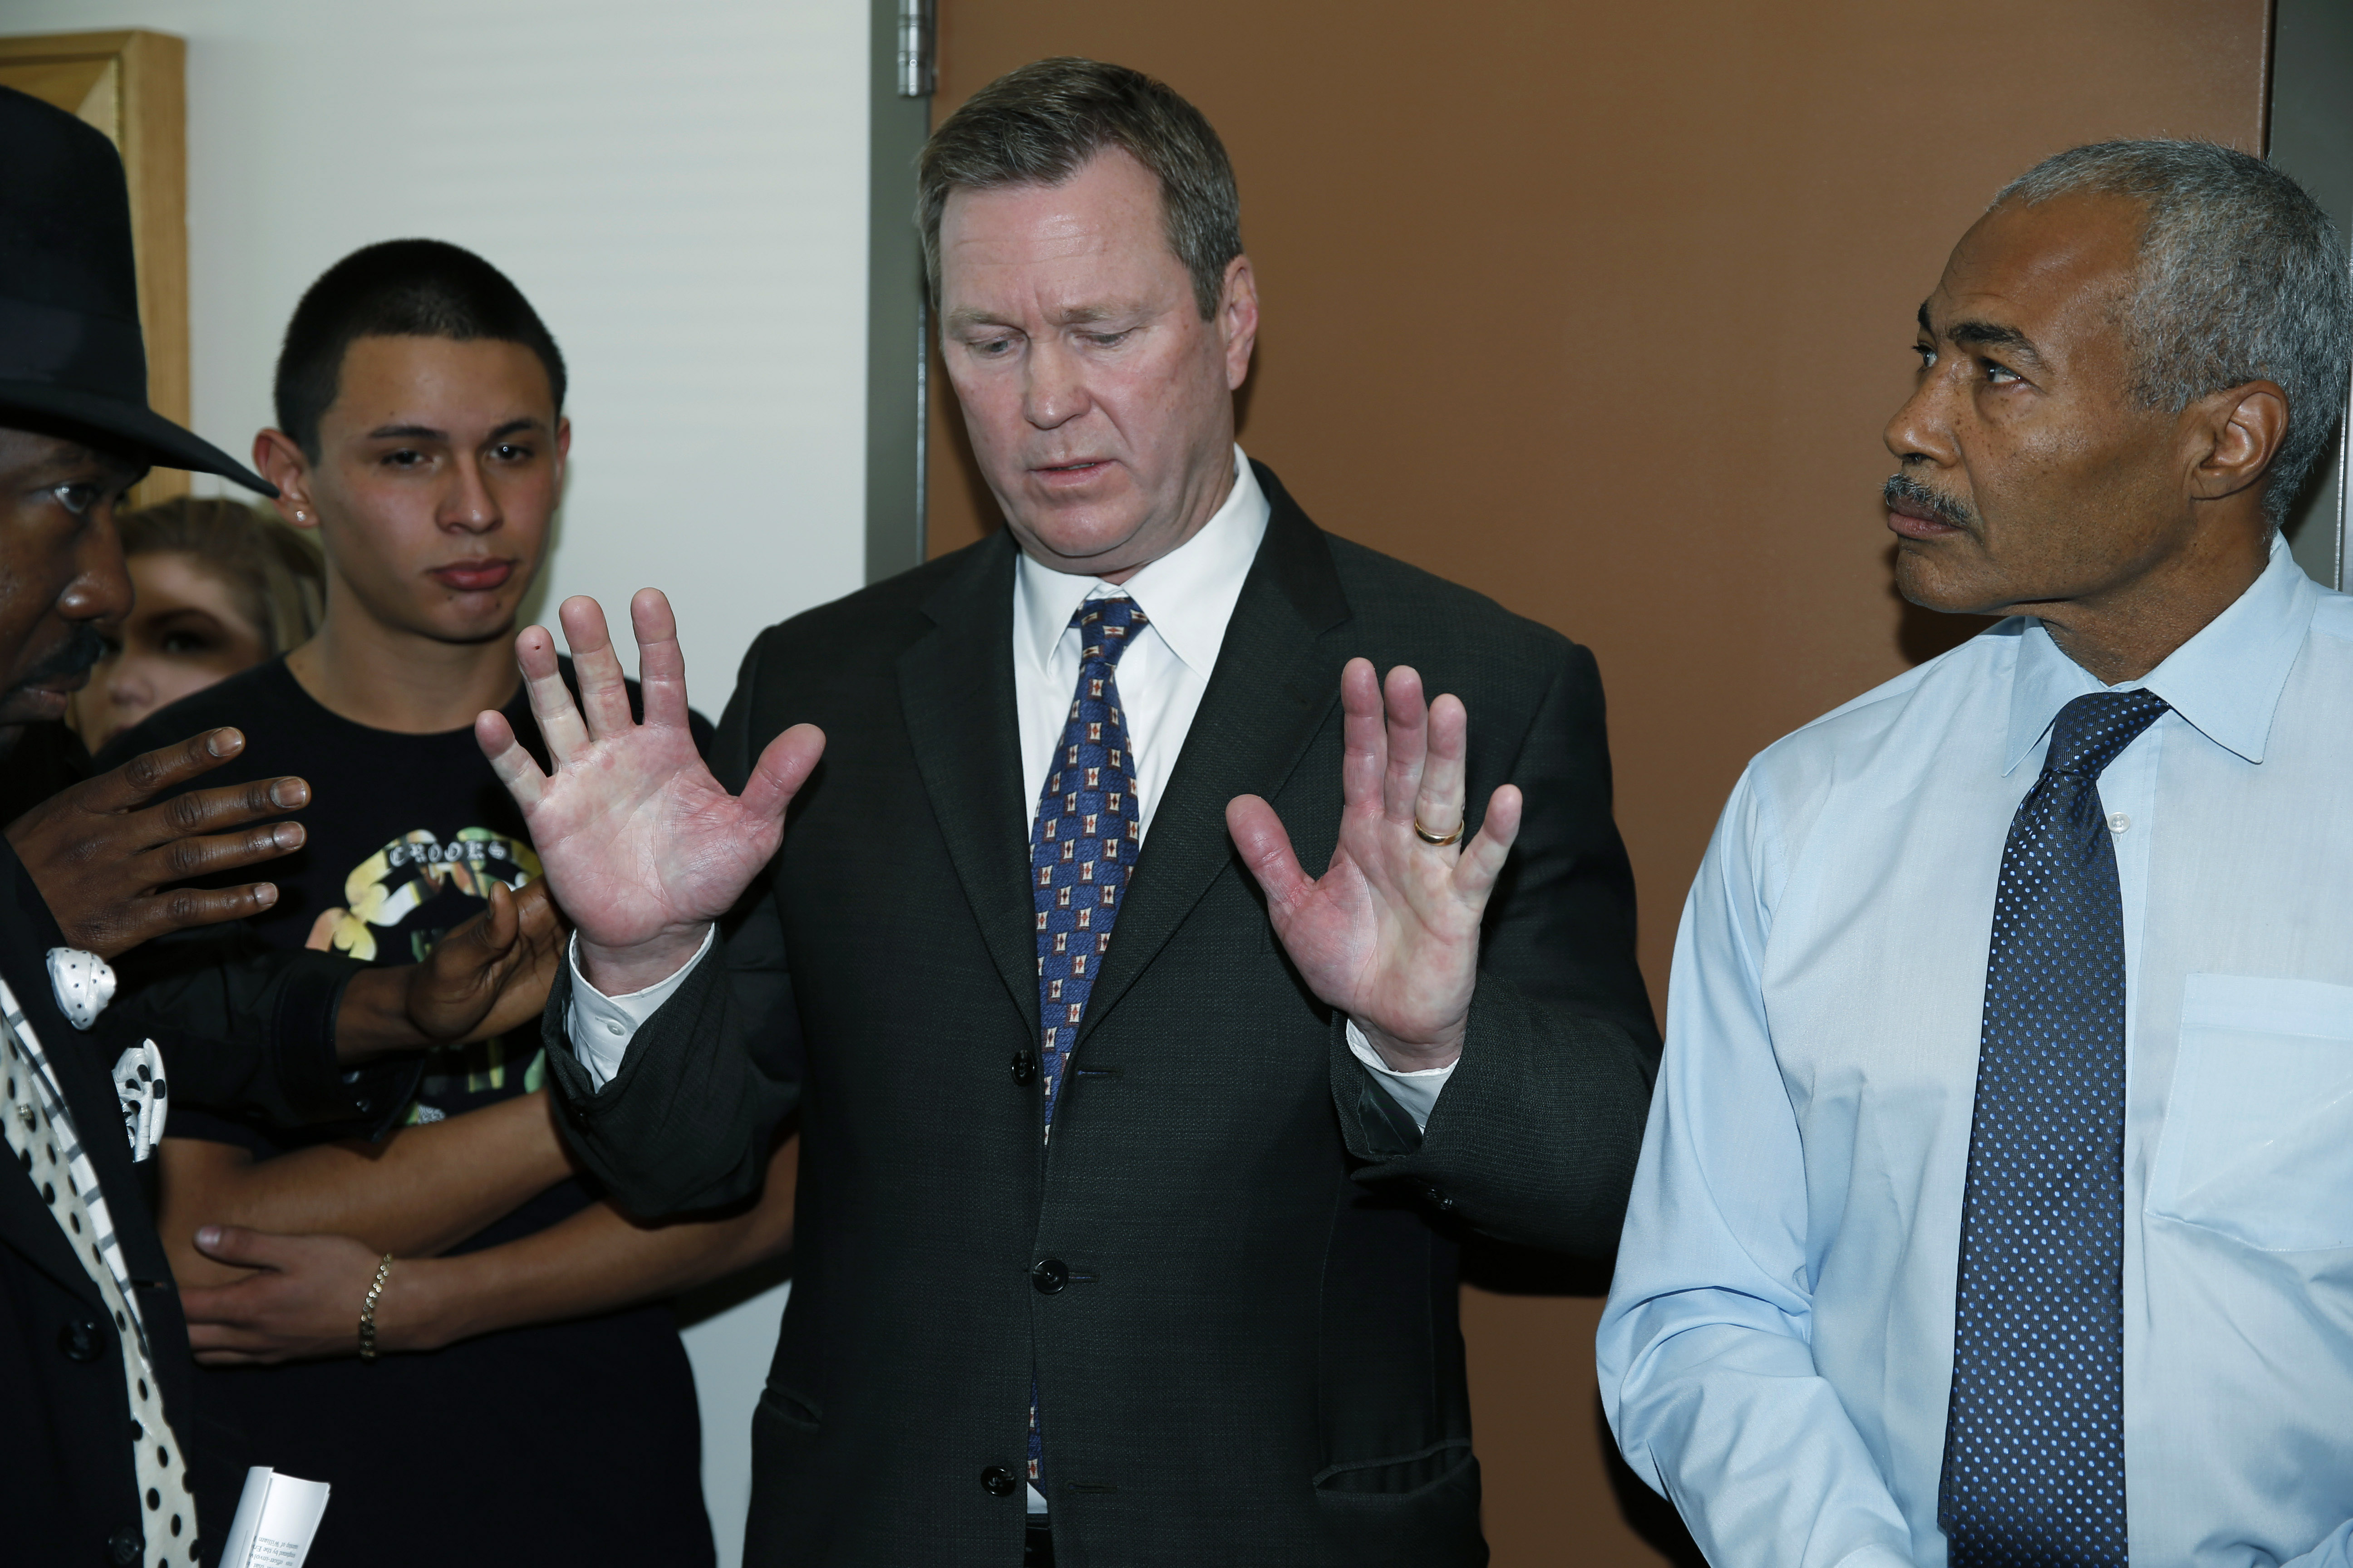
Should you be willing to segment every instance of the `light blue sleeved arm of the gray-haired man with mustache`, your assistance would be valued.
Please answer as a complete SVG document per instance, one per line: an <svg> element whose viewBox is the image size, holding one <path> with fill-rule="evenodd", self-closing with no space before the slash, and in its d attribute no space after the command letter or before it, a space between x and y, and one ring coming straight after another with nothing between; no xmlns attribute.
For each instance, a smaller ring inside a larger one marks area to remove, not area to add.
<svg viewBox="0 0 2353 1568"><path fill-rule="evenodd" d="M1602 1406L1711 1563L1908 1563L1887 1479L1814 1366L1805 1150L1760 983L1765 860L1741 780L1675 940L1666 1060L1600 1326Z"/></svg>

